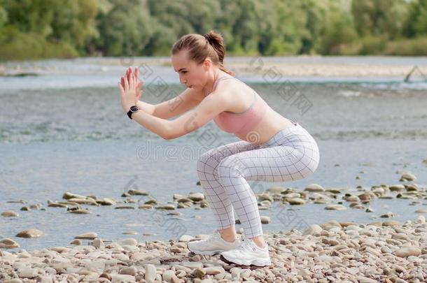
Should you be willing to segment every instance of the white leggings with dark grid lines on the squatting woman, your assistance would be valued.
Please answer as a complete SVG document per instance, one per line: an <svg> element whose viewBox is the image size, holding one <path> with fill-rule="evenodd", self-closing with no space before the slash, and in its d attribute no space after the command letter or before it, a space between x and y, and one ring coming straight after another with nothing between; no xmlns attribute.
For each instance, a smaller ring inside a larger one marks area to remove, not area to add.
<svg viewBox="0 0 427 283"><path fill-rule="evenodd" d="M197 175L218 229L235 225L233 208L246 238L262 235L258 203L246 180L289 182L314 173L319 152L314 138L294 123L261 145L241 140L202 154Z"/></svg>

